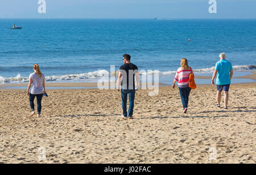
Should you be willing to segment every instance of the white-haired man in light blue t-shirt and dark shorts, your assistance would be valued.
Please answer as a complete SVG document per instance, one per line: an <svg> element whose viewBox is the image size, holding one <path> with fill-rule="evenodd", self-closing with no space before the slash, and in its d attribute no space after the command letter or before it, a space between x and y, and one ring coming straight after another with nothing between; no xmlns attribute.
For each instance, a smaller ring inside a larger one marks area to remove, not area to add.
<svg viewBox="0 0 256 175"><path fill-rule="evenodd" d="M216 79L216 85L217 85L217 108L220 108L220 102L221 102L221 92L222 89L224 91L224 109L228 109L228 100L229 100L229 86L231 83L231 79L233 76L233 68L232 64L226 60L225 53L221 53L220 61L218 61L215 65L215 69L212 75L212 85L214 85L214 79L217 76Z"/></svg>

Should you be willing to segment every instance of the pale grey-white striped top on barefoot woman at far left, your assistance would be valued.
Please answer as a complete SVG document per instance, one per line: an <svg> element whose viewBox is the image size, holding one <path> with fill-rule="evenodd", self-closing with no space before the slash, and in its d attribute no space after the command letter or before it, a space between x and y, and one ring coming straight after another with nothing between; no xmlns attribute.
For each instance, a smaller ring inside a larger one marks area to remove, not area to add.
<svg viewBox="0 0 256 175"><path fill-rule="evenodd" d="M31 94L42 94L43 93L43 80L46 79L44 74L39 77L38 74L30 74L30 79L32 79L32 86L30 88Z"/></svg>

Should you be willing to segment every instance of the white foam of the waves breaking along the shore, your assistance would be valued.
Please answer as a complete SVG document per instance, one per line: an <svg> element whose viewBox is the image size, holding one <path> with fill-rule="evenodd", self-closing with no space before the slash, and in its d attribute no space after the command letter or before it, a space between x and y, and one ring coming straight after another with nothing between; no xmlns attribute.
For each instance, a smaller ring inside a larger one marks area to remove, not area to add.
<svg viewBox="0 0 256 175"><path fill-rule="evenodd" d="M249 70L255 70L256 66L254 65L236 65L233 66L234 71L249 71ZM205 68L205 69L193 69L195 73L212 73L214 71L214 67ZM171 71L158 71L158 70L152 70L152 71L140 71L142 75L152 75L155 73L158 73L160 76L168 76L168 75L175 75L176 70ZM84 74L70 74L70 75L52 75L52 76L46 76L47 82L61 82L61 81L69 81L69 80L85 80L85 79L96 79L96 78L108 78L110 74L117 75L116 72L108 72L107 70L97 70L93 72L88 72ZM0 76L0 83L24 83L28 82L28 77L23 77L20 74L18 74L15 77L5 78L3 76Z"/></svg>

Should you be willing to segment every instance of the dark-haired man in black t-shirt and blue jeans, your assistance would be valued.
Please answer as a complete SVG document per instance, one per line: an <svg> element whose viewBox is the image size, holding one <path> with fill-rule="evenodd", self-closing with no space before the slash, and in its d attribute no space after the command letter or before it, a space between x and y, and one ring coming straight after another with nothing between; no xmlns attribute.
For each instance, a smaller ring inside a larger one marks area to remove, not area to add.
<svg viewBox="0 0 256 175"><path fill-rule="evenodd" d="M131 56L129 54L123 55L123 63L119 69L119 74L117 78L117 91L120 91L121 82L121 96L122 96L122 109L123 117L127 118L127 95L129 95L129 119L133 119L133 108L135 99L135 89L139 87L139 71L138 67L131 63ZM134 82L134 77L136 76L136 83ZM122 79L122 80L121 80Z"/></svg>

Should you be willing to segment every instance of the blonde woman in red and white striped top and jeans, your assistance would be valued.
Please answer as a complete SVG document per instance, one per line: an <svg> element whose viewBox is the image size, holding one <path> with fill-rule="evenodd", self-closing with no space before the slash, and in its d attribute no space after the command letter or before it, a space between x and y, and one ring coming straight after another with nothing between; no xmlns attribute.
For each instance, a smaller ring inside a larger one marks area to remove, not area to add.
<svg viewBox="0 0 256 175"><path fill-rule="evenodd" d="M193 74L193 70L188 66L188 60L186 58L180 59L179 69L176 71L174 78L174 84L172 88L175 88L175 83L177 82L180 91L181 102L183 105L183 113L187 113L188 110L188 99L191 88L188 87L189 74Z"/></svg>

